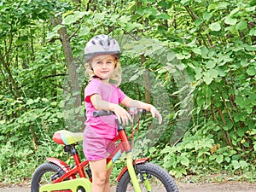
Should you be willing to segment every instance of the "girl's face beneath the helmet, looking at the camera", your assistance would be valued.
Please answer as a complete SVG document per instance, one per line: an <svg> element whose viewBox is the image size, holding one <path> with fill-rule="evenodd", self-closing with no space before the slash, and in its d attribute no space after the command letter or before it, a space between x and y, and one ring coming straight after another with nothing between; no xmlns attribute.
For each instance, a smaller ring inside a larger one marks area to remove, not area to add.
<svg viewBox="0 0 256 192"><path fill-rule="evenodd" d="M109 79L116 65L113 55L99 55L92 59L91 67L96 76L101 79Z"/></svg>

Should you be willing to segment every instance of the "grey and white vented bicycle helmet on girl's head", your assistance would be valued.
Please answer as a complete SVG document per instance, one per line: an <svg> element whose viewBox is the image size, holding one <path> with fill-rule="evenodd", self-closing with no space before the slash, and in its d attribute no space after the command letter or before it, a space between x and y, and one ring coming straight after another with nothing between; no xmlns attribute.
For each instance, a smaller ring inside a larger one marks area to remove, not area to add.
<svg viewBox="0 0 256 192"><path fill-rule="evenodd" d="M119 58L121 51L118 42L108 35L97 35L90 39L84 48L86 61L97 55L116 55Z"/></svg>

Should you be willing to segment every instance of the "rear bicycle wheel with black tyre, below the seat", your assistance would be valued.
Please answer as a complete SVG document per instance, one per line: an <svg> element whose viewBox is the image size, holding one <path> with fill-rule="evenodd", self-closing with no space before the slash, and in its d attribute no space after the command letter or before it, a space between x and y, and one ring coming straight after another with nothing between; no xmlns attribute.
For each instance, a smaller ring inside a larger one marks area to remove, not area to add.
<svg viewBox="0 0 256 192"><path fill-rule="evenodd" d="M31 192L38 192L41 185L52 183L53 179L61 177L63 174L64 171L60 166L49 162L38 166L32 175Z"/></svg>

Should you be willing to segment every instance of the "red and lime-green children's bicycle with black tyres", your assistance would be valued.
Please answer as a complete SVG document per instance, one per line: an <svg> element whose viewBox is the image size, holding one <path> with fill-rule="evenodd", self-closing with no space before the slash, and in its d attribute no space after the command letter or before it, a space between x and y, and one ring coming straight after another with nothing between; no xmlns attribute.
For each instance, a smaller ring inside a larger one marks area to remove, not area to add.
<svg viewBox="0 0 256 192"><path fill-rule="evenodd" d="M178 192L177 184L173 177L162 167L149 162L149 158L135 159L132 156L132 139L139 127L137 111L131 112L132 119L137 117L137 127L132 129L131 136L128 137L123 125L119 124L118 135L113 138L113 143L117 143L113 153L107 158L107 166L110 168L125 152L126 166L117 177L117 192L125 191L166 191ZM111 115L109 111L96 111L95 117ZM133 125L133 124L132 124ZM56 131L53 140L55 143L64 145L64 151L73 156L74 166L67 165L66 162L49 157L47 162L38 166L32 175L32 192L90 192L91 172L88 160L81 162L76 145L83 141L83 133L73 133L66 130ZM130 139L130 140L129 140Z"/></svg>

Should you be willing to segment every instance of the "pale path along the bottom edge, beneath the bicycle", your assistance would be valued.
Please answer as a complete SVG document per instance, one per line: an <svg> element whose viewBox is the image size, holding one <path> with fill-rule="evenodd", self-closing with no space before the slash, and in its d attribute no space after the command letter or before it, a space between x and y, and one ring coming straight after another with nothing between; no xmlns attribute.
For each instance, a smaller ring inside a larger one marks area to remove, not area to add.
<svg viewBox="0 0 256 192"><path fill-rule="evenodd" d="M179 192L256 192L256 183L177 183ZM114 192L115 188L111 189ZM28 185L0 188L0 192L30 192Z"/></svg>

